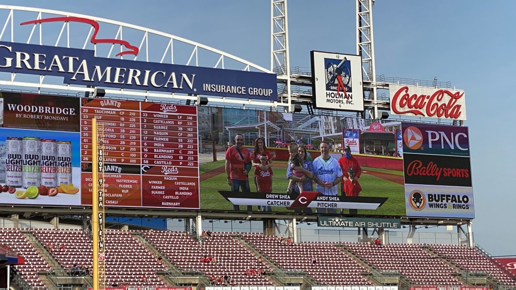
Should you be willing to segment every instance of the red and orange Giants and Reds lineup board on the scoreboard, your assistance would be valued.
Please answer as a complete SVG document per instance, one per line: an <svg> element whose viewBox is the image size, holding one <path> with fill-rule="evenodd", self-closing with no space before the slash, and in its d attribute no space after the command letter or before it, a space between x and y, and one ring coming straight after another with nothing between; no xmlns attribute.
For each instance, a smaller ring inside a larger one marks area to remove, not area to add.
<svg viewBox="0 0 516 290"><path fill-rule="evenodd" d="M195 106L83 99L80 111L84 205L91 204L96 135L104 149L106 206L199 208Z"/></svg>

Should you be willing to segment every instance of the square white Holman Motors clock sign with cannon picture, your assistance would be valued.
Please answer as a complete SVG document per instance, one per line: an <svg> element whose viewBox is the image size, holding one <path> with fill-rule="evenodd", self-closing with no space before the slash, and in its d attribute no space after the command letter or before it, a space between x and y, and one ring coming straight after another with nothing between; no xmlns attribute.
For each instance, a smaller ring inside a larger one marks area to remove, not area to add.
<svg viewBox="0 0 516 290"><path fill-rule="evenodd" d="M310 52L310 56L315 107L363 111L362 58L317 51Z"/></svg>

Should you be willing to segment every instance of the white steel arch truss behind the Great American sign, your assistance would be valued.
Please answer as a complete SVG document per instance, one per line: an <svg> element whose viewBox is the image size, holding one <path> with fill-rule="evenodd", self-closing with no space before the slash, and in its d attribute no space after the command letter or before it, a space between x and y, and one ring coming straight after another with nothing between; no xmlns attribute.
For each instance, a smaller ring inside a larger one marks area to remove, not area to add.
<svg viewBox="0 0 516 290"><path fill-rule="evenodd" d="M76 49L89 49L95 52L97 57L113 58L119 52L127 50L120 44L92 44L89 43L94 33L93 26L89 27L89 31L84 29L87 24L76 24L71 22L53 22L51 23L34 23L21 26L24 21L42 20L56 17L74 17L93 20L99 23L100 29L103 31L103 38L113 40L130 41L134 46L138 47L137 55L120 55L119 58L132 59L138 61L151 61L159 63L181 64L187 66L202 66L219 69L233 69L243 71L255 71L272 73L271 70L256 65L243 58L225 53L213 47L203 45L201 43L191 41L182 37L174 36L155 29L128 24L120 21L114 21L99 17L93 17L84 14L70 13L65 11L31 8L22 6L0 5L0 41L24 42L31 44L43 44L52 46L69 47ZM56 25L60 25L60 29L55 29ZM54 27L50 30L47 27ZM26 28L30 27L30 29ZM30 30L30 31L28 31ZM54 33L55 31L55 33ZM57 33L57 31L59 31ZM87 33L86 33L87 32ZM107 33L107 36L106 36ZM82 35L81 35L82 34ZM79 41L80 40L80 41ZM158 44L158 45L156 45ZM158 47L162 46L162 47ZM109 50L107 50L109 47ZM153 56L159 55L159 59L153 60ZM27 80L27 76L17 76L15 73L0 73L0 85L10 86L14 88L29 87L40 89L51 89L58 91L68 91L70 93L77 92L93 92L93 88L85 88L84 86L73 86L62 84L55 78L39 77ZM165 98L175 100L197 100L197 96L177 95L160 92L142 92L136 90L123 89L105 89L107 94L121 96L135 96L147 99ZM265 102L249 100L232 100L226 98L207 98L208 101L219 103L248 104L259 106L281 106L278 102ZM284 104L283 106L287 106Z"/></svg>

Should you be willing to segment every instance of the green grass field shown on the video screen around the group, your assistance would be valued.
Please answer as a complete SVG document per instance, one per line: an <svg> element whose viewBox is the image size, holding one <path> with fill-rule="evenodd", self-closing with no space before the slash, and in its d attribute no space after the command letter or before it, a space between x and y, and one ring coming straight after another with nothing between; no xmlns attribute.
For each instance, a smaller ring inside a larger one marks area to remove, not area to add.
<svg viewBox="0 0 516 290"><path fill-rule="evenodd" d="M286 180L286 162L275 162L276 166L272 167L274 175L272 176L272 192L276 194L283 194L286 192L288 181ZM278 166L284 164L283 166ZM224 165L224 161L204 163L199 165L200 173L209 172L213 169L219 168ZM364 168L364 170L375 170ZM252 171L251 171L252 172ZM398 171L382 170L384 173L397 174ZM402 172L401 172L402 174ZM399 175L399 174L397 174ZM362 174L360 178L360 184L362 186L362 192L360 196L364 197L387 197L389 198L378 210L359 210L359 214L364 215L393 215L393 216L404 216L405 211L405 191L404 186L386 181L369 174ZM256 192L254 181L250 176L249 185L252 192ZM213 176L212 178L201 181L201 208L203 210L222 210L231 211L233 210L233 204L225 200L218 192L218 190L230 190L228 185L228 179L224 172ZM314 186L315 189L315 186ZM245 206L240 206L244 210ZM253 211L257 211L257 207L253 206ZM284 207L272 207L273 212L293 212L286 210ZM347 214L348 211L344 210Z"/></svg>

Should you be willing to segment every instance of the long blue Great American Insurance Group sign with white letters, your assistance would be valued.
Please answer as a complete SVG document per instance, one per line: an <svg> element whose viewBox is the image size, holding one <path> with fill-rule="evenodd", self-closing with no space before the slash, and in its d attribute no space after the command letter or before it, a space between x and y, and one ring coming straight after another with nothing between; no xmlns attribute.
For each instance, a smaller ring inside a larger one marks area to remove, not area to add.
<svg viewBox="0 0 516 290"><path fill-rule="evenodd" d="M0 71L64 84L277 101L276 74L94 57L93 51L0 41Z"/></svg>

